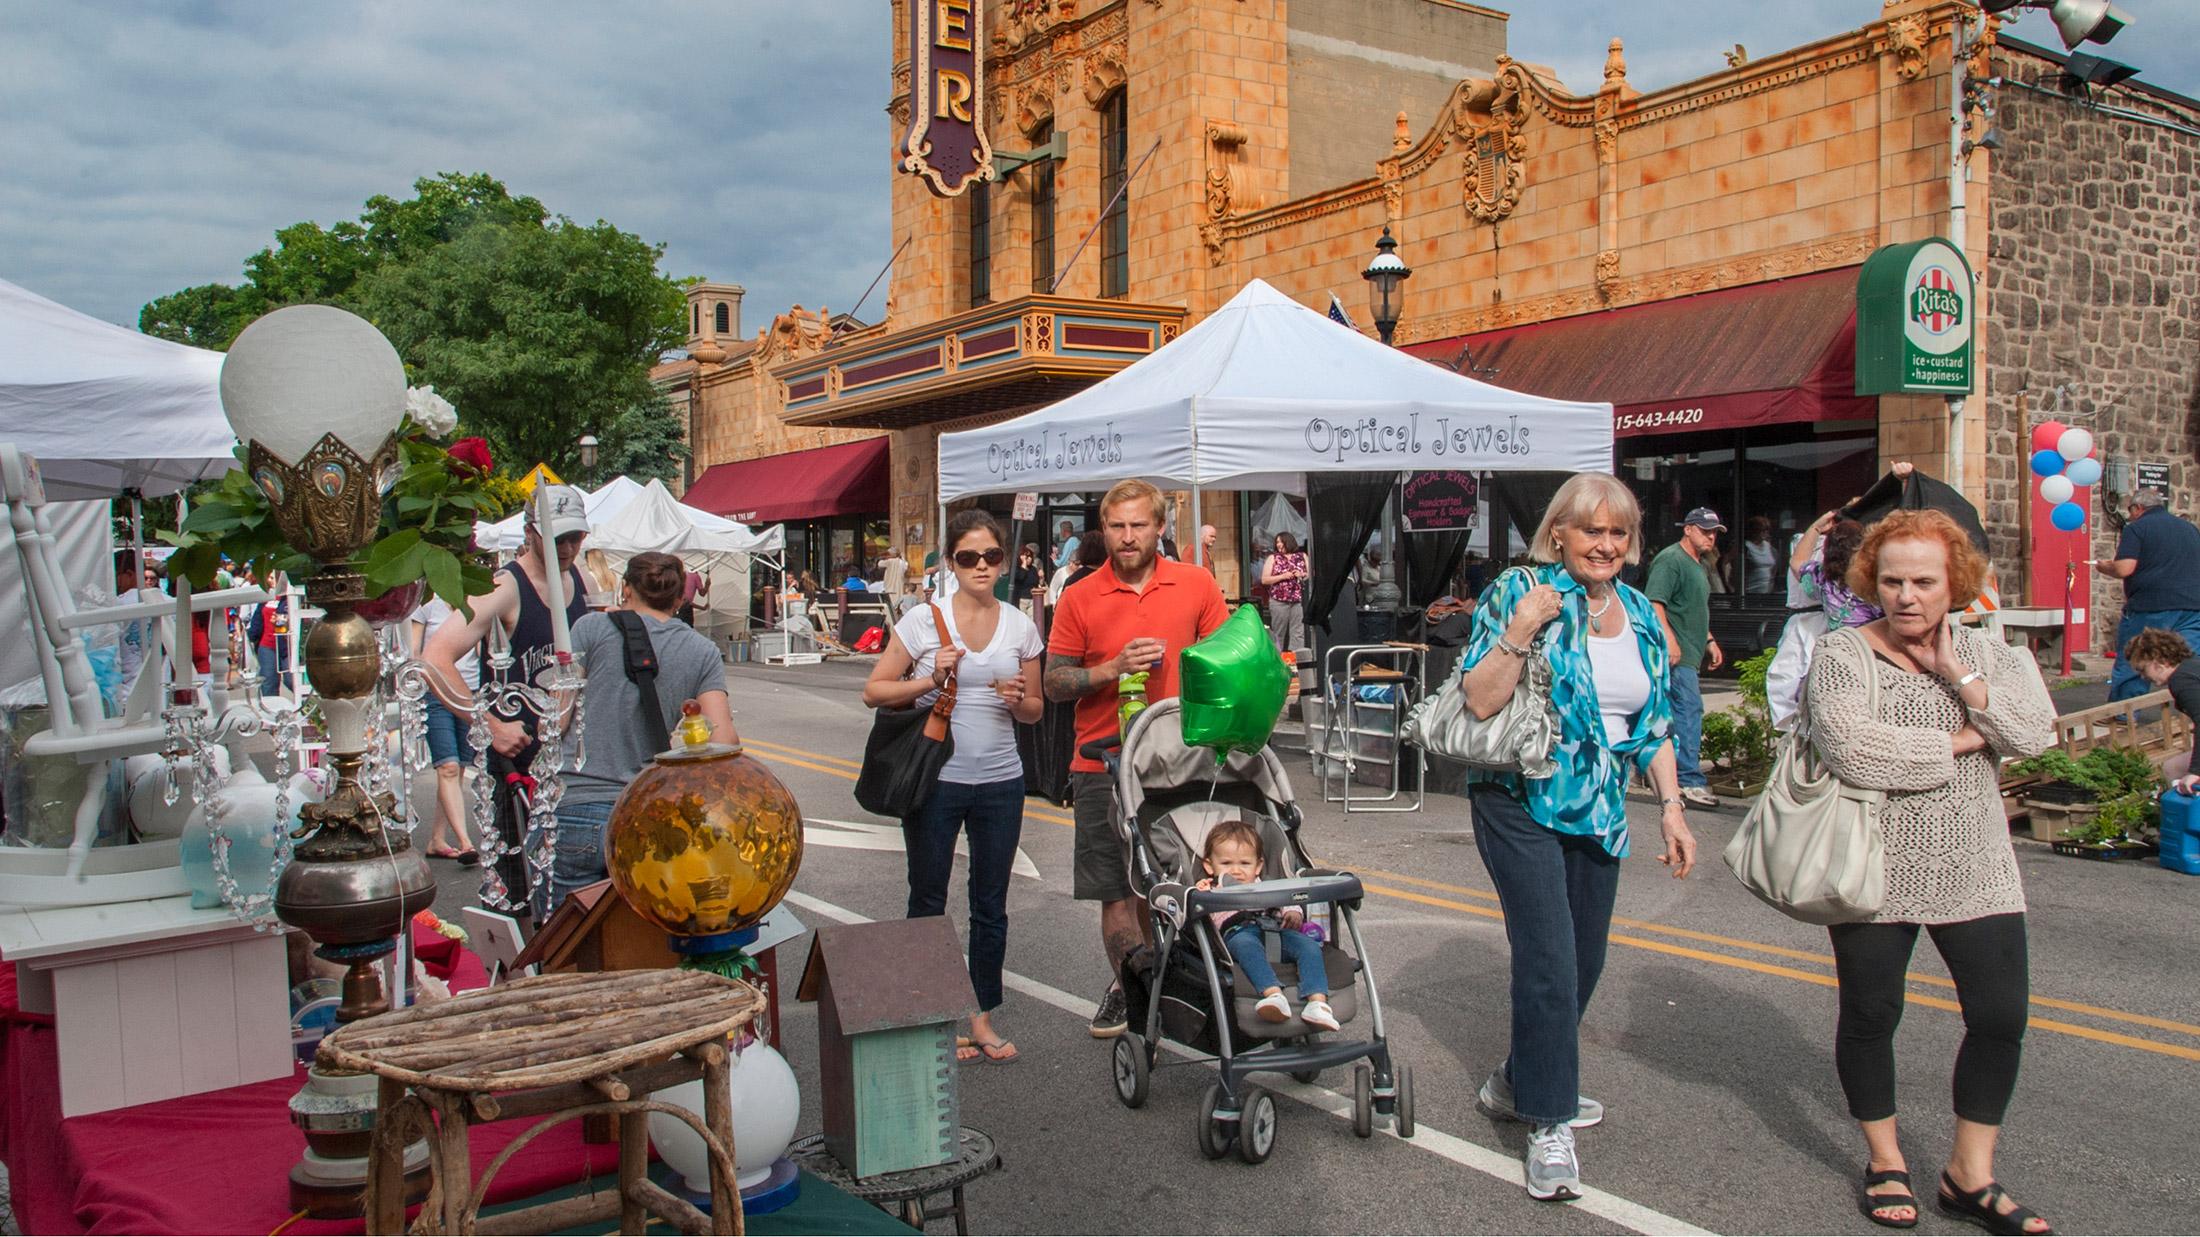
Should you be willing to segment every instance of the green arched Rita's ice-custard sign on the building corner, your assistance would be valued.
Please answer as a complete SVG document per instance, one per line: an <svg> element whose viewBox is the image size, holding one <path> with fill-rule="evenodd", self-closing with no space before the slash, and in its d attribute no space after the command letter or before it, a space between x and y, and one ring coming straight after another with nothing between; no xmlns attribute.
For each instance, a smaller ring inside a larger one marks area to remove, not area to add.
<svg viewBox="0 0 2200 1237"><path fill-rule="evenodd" d="M1872 253L1857 275L1857 394L1971 394L1976 286L1940 238Z"/></svg>

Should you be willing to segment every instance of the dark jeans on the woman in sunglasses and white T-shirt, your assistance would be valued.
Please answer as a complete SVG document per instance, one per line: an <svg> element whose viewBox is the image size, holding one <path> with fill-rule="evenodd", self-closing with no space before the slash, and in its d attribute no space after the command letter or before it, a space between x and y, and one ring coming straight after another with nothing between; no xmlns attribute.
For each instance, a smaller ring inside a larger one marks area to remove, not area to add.
<svg viewBox="0 0 2200 1237"><path fill-rule="evenodd" d="M909 918L948 913L955 876L955 834L970 830L970 988L977 1008L1001 1004L1001 964L1008 960L1008 874L1023 836L1023 777L968 786L942 781L902 821L909 850Z"/></svg>

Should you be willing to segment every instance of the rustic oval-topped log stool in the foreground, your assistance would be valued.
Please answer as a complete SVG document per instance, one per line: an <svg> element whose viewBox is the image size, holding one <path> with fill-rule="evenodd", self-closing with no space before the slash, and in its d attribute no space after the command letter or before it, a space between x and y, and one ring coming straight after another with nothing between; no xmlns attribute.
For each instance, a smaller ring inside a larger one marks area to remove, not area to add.
<svg viewBox="0 0 2200 1237"><path fill-rule="evenodd" d="M367 1160L367 1233L405 1230L405 1147L433 1136L433 1186L416 1233L552 1233L618 1217L642 1233L658 1217L682 1233L741 1233L733 1182L726 1037L763 1010L763 995L700 971L537 975L431 1006L337 1028L321 1041L323 1070L376 1074L374 1149ZM662 1105L651 1092L704 1081L704 1116ZM711 1153L711 1215L653 1184L645 1114L675 1116ZM614 1114L618 1191L482 1217L488 1182L521 1147L561 1120ZM473 1180L466 1131L477 1120L541 1116Z"/></svg>

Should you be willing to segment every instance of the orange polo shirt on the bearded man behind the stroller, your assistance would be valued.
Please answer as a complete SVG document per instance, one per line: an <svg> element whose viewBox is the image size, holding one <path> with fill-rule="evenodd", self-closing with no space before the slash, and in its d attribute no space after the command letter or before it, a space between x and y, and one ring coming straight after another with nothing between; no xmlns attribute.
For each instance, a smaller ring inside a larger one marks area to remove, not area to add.
<svg viewBox="0 0 2200 1237"><path fill-rule="evenodd" d="M1223 590L1203 568L1155 559L1146 590L1133 592L1115 579L1115 559L1111 557L1100 570L1063 592L1063 603L1054 607L1054 636L1047 641L1047 656L1076 658L1078 665L1096 667L1120 654L1131 641L1164 641L1168 654L1146 678L1146 700L1168 700L1177 693L1177 654L1210 636L1225 618L1230 618L1230 607L1223 603ZM1082 748L1113 733L1115 685L1109 682L1078 700L1076 744ZM1082 755L1076 755L1069 768L1074 773L1107 773L1100 762Z"/></svg>

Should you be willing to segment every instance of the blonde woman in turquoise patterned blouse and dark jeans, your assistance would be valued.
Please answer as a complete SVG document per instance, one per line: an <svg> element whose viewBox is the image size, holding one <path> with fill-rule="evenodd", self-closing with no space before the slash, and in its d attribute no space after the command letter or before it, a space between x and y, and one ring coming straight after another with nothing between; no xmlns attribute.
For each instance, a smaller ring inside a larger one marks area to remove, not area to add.
<svg viewBox="0 0 2200 1237"><path fill-rule="evenodd" d="M1617 478L1580 473L1560 486L1529 546L1536 566L1500 574L1474 607L1461 656L1467 707L1494 718L1529 658L1551 665L1560 733L1549 777L1472 777L1474 847L1505 907L1511 942L1511 1052L1481 1105L1531 1127L1527 1193L1582 1197L1573 1131L1604 1120L1580 1096L1580 1023L1604 973L1619 861L1628 854L1626 788L1646 773L1661 801L1659 863L1687 876L1687 828L1672 751L1665 627L1650 599L1619 583L1641 559L1641 506Z"/></svg>

